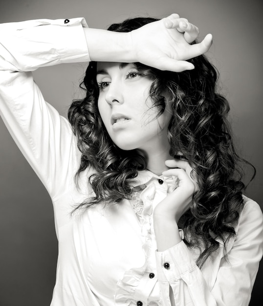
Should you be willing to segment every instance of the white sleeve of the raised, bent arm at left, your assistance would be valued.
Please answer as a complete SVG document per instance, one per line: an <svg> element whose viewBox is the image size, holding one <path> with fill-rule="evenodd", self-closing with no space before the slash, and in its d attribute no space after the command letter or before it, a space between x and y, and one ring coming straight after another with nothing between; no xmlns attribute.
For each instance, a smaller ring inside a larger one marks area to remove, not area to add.
<svg viewBox="0 0 263 306"><path fill-rule="evenodd" d="M79 162L69 122L35 84L39 67L90 61L83 18L0 24L0 114L51 197Z"/></svg>

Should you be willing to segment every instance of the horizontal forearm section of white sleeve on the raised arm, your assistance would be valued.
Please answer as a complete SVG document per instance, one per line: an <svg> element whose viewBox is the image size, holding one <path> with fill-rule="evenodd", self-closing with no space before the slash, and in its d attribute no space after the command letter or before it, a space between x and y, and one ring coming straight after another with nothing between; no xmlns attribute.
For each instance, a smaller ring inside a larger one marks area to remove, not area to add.
<svg viewBox="0 0 263 306"><path fill-rule="evenodd" d="M88 27L84 18L0 24L0 51L5 60L2 69L33 71L62 63L90 62L84 27Z"/></svg>

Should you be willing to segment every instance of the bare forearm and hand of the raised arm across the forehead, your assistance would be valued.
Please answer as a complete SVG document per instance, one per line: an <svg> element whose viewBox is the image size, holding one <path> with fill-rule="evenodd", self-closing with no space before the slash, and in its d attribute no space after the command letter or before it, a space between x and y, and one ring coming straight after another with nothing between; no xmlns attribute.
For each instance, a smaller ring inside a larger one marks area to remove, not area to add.
<svg viewBox="0 0 263 306"><path fill-rule="evenodd" d="M92 61L139 62L175 72L194 69L187 60L207 52L212 44L211 34L198 44L189 44L197 38L198 28L178 14L129 33L85 28L84 34Z"/></svg>

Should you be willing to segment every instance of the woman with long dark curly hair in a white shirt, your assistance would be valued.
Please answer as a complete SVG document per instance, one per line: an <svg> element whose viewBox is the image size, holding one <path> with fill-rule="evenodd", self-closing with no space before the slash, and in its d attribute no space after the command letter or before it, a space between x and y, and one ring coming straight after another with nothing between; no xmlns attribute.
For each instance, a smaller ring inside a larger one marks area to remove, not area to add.
<svg viewBox="0 0 263 306"><path fill-rule="evenodd" d="M229 107L201 56L211 35L191 44L197 29L177 15L83 26L1 34L3 120L54 203L51 305L248 305L263 218L241 195ZM29 71L89 59L74 135Z"/></svg>

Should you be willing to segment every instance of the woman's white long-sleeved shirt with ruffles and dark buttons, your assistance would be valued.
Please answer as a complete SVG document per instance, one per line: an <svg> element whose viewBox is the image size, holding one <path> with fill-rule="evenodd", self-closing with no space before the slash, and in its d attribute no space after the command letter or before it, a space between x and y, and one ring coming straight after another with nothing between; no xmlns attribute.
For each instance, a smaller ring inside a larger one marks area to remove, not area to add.
<svg viewBox="0 0 263 306"><path fill-rule="evenodd" d="M142 186L143 210L138 201L123 200L70 216L74 204L92 195L92 171L81 174L77 189L76 138L68 121L44 101L30 71L88 62L83 27L81 18L0 25L0 113L54 205L59 256L51 305L170 306L171 286L176 306L247 306L263 253L263 215L253 200L244 197L227 258L221 244L201 270L195 263L199 251L183 241L156 251L152 212L170 182L149 171L131 180Z"/></svg>

